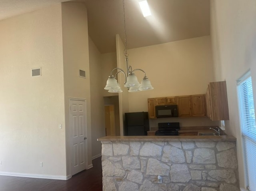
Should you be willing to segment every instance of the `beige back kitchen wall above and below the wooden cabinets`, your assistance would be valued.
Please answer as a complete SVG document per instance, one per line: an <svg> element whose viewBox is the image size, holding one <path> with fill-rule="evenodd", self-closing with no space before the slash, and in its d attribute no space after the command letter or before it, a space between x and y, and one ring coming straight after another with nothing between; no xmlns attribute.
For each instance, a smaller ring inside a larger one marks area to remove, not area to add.
<svg viewBox="0 0 256 191"><path fill-rule="evenodd" d="M154 90L129 93L129 112L148 111L147 98L205 94L214 81L210 36L180 40L128 50L132 69L146 72ZM136 71L139 82L143 72ZM217 125L208 117L150 119L150 127L159 122L180 122L181 126Z"/></svg>

